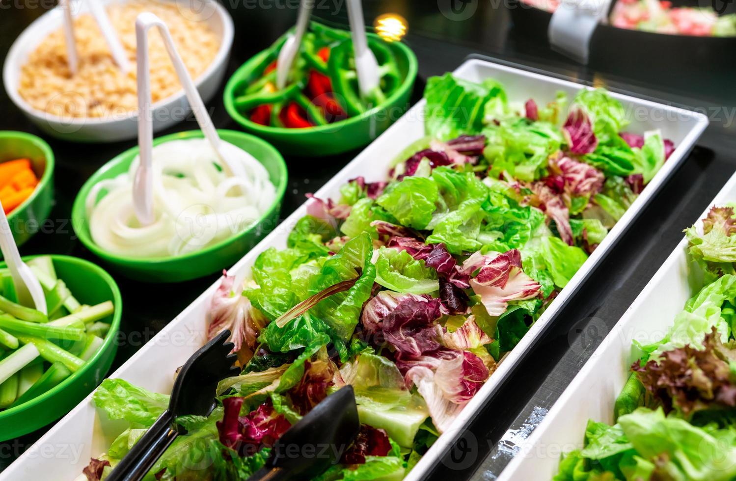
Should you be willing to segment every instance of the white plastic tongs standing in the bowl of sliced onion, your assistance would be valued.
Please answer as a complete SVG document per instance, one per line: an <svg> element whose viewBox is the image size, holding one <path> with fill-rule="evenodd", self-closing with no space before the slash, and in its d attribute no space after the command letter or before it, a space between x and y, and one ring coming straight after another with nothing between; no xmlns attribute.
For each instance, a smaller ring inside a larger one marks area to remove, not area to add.
<svg viewBox="0 0 736 481"><path fill-rule="evenodd" d="M153 125L151 118L151 75L149 69L148 58L148 31L152 26L158 27L166 51L171 57L171 63L174 64L174 70L179 77L179 82L184 88L186 98L197 118L197 124L205 138L212 146L212 149L219 157L220 163L224 171L234 177L246 177L247 173L242 164L232 160L229 152L233 149L238 150L238 155L247 155L255 160L248 152L238 149L230 143L223 142L217 135L217 130L207 113L205 102L202 96L194 86L189 72L174 45L174 40L169 33L169 27L163 23L153 13L141 13L135 20L135 43L138 55L138 149L140 150L141 163L138 170L135 171L135 179L133 179L133 207L135 216L142 225L152 224L153 215L153 167L152 167L152 150L153 150Z"/></svg>

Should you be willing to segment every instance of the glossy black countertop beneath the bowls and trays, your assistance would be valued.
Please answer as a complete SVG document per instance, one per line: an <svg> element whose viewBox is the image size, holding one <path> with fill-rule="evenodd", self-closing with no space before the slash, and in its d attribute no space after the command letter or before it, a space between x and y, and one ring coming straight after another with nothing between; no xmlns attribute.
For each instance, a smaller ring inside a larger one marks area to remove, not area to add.
<svg viewBox="0 0 736 481"><path fill-rule="evenodd" d="M222 0L222 3L230 8L236 21L228 74L291 26L298 4L291 0ZM51 4L52 1L38 0L1 1L0 52L7 52L22 30ZM318 0L316 5L316 15L325 21L347 24L344 1ZM677 58L677 52L670 53L673 64L668 70L654 71L642 64L621 68L620 62L616 63L615 72L608 71L606 63L601 61L596 65L604 66L598 69L577 65L521 33L520 29L514 29L501 0L365 0L364 7L369 22L387 12L407 18L410 33L406 43L419 59L414 99L420 98L428 76L453 70L470 54L484 54L522 68L547 71L589 85L606 85L612 90L688 107L706 113L711 121L690 158L631 225L573 301L550 323L551 327L535 343L534 349L530 349L508 381L487 400L468 429L459 433L455 449L448 452L432 472L433 479L447 479L448 476L494 479L508 462L514 441L523 438L528 427L536 424L551 407L682 238L682 229L696 220L736 169L736 89L720 65L698 71L695 76L692 72L683 75L687 60ZM728 55L723 52L724 62L729 61ZM216 127L237 129L224 111L222 91L208 107L214 113ZM41 135L4 91L0 93L0 111L1 129ZM161 134L195 128L194 118L188 118ZM49 141L57 158L56 204L51 215L54 232L36 235L21 248L21 254L71 254L94 261L69 227L71 203L93 171L134 146L135 140L75 144L41 136ZM303 202L305 193L321 187L355 154L350 152L316 160L286 157L290 181L283 217ZM191 282L152 286L116 276L123 295L121 331L124 336L113 370L216 278L213 274ZM0 469L45 431L0 443Z"/></svg>

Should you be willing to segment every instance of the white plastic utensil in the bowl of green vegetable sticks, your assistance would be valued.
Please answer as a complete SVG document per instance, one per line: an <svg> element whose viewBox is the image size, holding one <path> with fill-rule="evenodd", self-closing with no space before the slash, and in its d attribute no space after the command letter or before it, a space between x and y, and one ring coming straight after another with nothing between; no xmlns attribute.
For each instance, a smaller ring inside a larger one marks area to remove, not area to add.
<svg viewBox="0 0 736 481"><path fill-rule="evenodd" d="M18 246L15 245L13 232L10 231L5 210L0 203L0 250L5 258L10 276L13 277L13 285L15 293L18 296L18 302L26 307L35 307L46 314L46 297L43 296L43 289L40 282L35 277L31 268L21 259L18 252Z"/></svg>

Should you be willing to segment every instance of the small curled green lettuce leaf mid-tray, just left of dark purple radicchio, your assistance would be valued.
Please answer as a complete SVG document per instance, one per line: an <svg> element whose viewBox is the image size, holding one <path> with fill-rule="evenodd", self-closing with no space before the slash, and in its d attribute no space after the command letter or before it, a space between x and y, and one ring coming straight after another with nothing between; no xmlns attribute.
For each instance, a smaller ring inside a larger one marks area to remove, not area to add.
<svg viewBox="0 0 736 481"><path fill-rule="evenodd" d="M392 291L427 294L439 290L437 271L406 251L381 246L375 269L375 282Z"/></svg>

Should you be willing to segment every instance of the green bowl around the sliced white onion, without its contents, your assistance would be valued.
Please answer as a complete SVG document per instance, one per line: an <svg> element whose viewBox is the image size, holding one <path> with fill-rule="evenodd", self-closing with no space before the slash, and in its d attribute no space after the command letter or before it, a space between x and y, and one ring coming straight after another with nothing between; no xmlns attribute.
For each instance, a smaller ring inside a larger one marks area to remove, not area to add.
<svg viewBox="0 0 736 481"><path fill-rule="evenodd" d="M119 271L126 277L143 282L182 282L213 274L214 272L222 271L224 268L233 266L264 235L271 232L277 226L281 202L286 192L286 163L284 163L281 154L271 144L259 138L233 130L218 130L217 132L219 132L222 140L226 140L240 147L258 159L266 168L266 171L268 171L271 182L275 185L276 199L274 203L255 224L243 232L238 232L236 235L224 239L224 241L205 247L205 249L174 257L125 257L112 254L100 248L94 243L90 234L89 221L85 210L85 199L87 199L88 193L97 182L103 179L111 179L128 170L130 163L138 155L138 147L134 147L103 165L99 171L96 171L85 182L85 185L82 185L82 189L79 190L77 199L74 199L74 207L71 210L72 226L74 227L74 232L77 233L79 241L82 241L87 249L91 250L91 252L104 260L105 263L109 264L116 271ZM201 130L178 132L155 139L153 145L157 146L169 140L202 137L204 135Z"/></svg>

